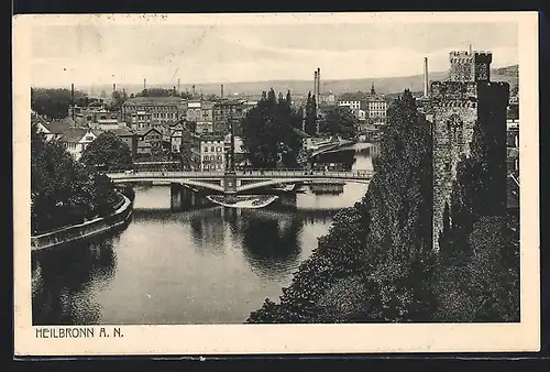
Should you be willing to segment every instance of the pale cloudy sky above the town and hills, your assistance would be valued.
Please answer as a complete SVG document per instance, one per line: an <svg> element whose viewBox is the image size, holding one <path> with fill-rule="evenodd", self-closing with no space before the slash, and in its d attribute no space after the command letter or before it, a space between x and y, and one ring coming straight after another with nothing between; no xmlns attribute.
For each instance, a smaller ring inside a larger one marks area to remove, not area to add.
<svg viewBox="0 0 550 372"><path fill-rule="evenodd" d="M34 25L33 86L376 78L449 68L452 50L518 63L516 23Z"/></svg>

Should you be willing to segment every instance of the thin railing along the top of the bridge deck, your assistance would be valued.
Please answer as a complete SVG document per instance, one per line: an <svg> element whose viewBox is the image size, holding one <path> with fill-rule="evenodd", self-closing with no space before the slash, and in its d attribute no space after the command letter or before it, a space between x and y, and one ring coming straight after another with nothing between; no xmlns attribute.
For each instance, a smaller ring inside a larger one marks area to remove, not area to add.
<svg viewBox="0 0 550 372"><path fill-rule="evenodd" d="M237 171L234 174L240 178L246 177L339 177L339 178L365 178L371 177L374 172L371 169L354 169L354 171L310 171L310 169L246 169ZM141 172L118 172L108 173L112 178L178 178L178 177L216 177L222 178L226 175L223 171L141 171Z"/></svg>

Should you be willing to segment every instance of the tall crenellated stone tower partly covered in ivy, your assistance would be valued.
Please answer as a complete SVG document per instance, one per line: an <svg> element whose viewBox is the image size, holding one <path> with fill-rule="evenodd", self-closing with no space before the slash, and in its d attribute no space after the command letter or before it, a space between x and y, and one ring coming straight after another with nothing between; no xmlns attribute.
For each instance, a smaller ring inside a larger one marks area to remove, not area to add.
<svg viewBox="0 0 550 372"><path fill-rule="evenodd" d="M476 122L486 134L488 151L494 155L487 167L491 173L492 209L506 208L506 108L507 83L491 81L490 52L458 51L450 53L448 81L431 84L427 118L433 135L433 215L432 247L439 251L446 203L451 204L457 165L470 156L470 142Z"/></svg>

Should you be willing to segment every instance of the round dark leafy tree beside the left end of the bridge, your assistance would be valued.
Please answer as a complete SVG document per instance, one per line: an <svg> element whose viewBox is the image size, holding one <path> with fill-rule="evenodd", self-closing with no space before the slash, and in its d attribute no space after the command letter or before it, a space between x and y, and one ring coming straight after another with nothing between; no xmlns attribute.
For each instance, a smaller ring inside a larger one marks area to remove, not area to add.
<svg viewBox="0 0 550 372"><path fill-rule="evenodd" d="M133 164L128 144L109 131L99 134L86 147L80 161L91 168L102 165L106 171L130 169Z"/></svg>

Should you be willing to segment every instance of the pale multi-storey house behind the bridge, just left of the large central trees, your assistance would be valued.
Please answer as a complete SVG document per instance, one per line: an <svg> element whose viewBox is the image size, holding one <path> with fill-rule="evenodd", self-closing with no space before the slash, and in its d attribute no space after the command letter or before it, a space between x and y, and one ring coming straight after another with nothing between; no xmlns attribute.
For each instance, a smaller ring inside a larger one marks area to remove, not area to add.
<svg viewBox="0 0 550 372"><path fill-rule="evenodd" d="M191 134L191 167L195 171L226 171L226 136L211 133Z"/></svg>

